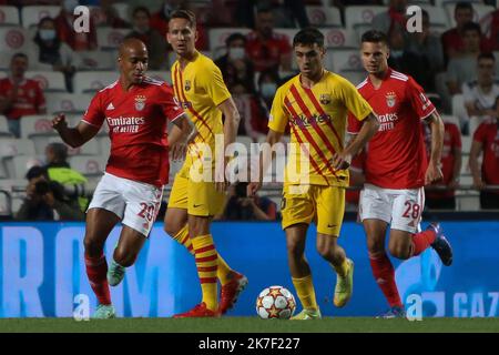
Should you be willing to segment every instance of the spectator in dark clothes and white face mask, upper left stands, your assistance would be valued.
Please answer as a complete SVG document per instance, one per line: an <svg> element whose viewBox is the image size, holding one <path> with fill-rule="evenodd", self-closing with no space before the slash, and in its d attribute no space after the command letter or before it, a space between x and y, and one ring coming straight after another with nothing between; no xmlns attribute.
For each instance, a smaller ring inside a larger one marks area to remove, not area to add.
<svg viewBox="0 0 499 355"><path fill-rule="evenodd" d="M75 53L67 44L61 42L55 32L55 22L49 17L44 17L38 23L38 31L32 45L33 58L38 59L37 69L50 69L64 74L65 87L72 92L72 78L75 72Z"/></svg>

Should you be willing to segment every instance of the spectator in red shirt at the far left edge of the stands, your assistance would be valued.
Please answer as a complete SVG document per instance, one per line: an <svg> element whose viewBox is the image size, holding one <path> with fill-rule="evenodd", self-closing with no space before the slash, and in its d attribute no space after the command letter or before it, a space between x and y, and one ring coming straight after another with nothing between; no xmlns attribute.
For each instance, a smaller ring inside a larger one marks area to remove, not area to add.
<svg viewBox="0 0 499 355"><path fill-rule="evenodd" d="M20 120L28 114L45 113L45 98L35 80L24 78L28 55L16 53L10 60L10 77L0 80L0 114L7 116L9 131L21 136Z"/></svg>

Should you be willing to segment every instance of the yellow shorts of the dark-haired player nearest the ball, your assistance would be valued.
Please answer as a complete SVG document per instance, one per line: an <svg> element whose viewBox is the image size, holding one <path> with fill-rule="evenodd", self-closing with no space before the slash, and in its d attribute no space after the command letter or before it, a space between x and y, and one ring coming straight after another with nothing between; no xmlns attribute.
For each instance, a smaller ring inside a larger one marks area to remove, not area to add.
<svg viewBox="0 0 499 355"><path fill-rule="evenodd" d="M345 213L345 187L285 184L281 213L283 230L314 221L317 233L338 236Z"/></svg>

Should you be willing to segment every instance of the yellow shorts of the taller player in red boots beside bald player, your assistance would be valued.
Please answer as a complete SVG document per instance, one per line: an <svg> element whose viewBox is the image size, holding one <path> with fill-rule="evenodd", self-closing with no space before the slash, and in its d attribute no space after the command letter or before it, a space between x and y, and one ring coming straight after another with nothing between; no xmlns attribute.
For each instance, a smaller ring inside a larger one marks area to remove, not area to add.
<svg viewBox="0 0 499 355"><path fill-rule="evenodd" d="M225 193L214 182L194 182L179 173L169 199L169 209L184 209L191 215L211 216L223 211Z"/></svg>

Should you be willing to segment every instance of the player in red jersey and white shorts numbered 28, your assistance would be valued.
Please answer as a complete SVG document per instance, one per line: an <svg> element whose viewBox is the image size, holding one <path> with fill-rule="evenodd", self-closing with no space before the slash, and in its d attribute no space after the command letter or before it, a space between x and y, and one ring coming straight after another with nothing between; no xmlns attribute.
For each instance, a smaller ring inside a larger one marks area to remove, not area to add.
<svg viewBox="0 0 499 355"><path fill-rule="evenodd" d="M405 316L394 266L385 252L388 224L388 248L393 256L407 260L431 245L445 265L452 262L452 250L438 223L418 233L425 204L424 185L442 178L439 163L444 124L421 87L388 67L385 33L364 33L360 52L368 77L357 89L378 115L380 128L367 144L359 217L367 235L373 274L390 305L384 317ZM431 126L429 163L421 120ZM350 114L348 132L356 134L360 126L361 122Z"/></svg>

